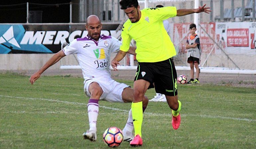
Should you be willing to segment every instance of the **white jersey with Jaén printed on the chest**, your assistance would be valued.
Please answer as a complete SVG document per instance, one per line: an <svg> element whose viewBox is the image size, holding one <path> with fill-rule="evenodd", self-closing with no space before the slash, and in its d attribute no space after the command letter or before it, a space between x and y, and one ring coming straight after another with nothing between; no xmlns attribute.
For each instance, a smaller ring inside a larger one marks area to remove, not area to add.
<svg viewBox="0 0 256 149"><path fill-rule="evenodd" d="M77 38L63 48L65 55L77 54L83 78L110 79L110 54L119 51L121 42L112 36L100 35L97 41L89 37Z"/></svg>

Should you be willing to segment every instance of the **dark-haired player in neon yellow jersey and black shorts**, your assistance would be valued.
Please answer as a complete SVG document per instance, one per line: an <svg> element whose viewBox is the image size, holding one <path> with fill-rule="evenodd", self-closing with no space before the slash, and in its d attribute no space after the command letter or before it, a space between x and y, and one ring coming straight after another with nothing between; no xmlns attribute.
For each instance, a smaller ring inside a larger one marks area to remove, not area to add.
<svg viewBox="0 0 256 149"><path fill-rule="evenodd" d="M136 58L138 60L137 73L134 79L134 100L132 103L132 117L135 138L131 146L141 146L141 125L143 121L142 99L149 88L157 93L165 94L167 103L172 109L172 125L178 129L181 122L181 102L178 100L177 73L172 57L176 55L175 47L168 36L163 20L175 16L192 13L209 13L209 7L197 9L179 9L176 7L145 8L140 10L137 0L121 0L121 9L129 18L123 25L122 44L120 51L112 60L111 66L117 70L117 64L124 58L132 39L136 41Z"/></svg>

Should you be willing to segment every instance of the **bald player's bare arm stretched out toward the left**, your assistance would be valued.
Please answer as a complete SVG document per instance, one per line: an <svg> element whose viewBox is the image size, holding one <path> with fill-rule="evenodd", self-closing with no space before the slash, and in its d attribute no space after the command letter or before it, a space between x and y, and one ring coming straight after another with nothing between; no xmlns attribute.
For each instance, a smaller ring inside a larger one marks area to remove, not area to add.
<svg viewBox="0 0 256 149"><path fill-rule="evenodd" d="M40 77L40 75L47 70L50 66L57 63L60 59L62 59L65 56L64 52L61 50L58 53L54 54L53 57L51 57L45 65L40 68L35 74L31 75L29 78L30 83L33 85L33 83Z"/></svg>

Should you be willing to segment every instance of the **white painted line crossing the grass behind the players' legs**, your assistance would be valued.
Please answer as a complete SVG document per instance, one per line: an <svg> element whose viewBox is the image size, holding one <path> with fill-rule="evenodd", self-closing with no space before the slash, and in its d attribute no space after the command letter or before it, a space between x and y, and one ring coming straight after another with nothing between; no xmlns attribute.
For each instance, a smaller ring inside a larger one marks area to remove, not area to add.
<svg viewBox="0 0 256 149"><path fill-rule="evenodd" d="M0 97L7 97L7 98L18 98L18 99L30 99L30 100L43 100L43 101L50 101L50 102L60 102L66 104L74 104L74 105L86 105L86 103L79 103L79 102L69 102L69 101L61 101L61 100L54 100L54 99L43 99L43 98L29 98L29 97L16 97L16 96L5 96L0 95ZM104 109L120 111L120 112L129 112L128 110L122 110L118 108L111 108L106 106L99 106ZM144 114L149 116L171 116L171 114L157 114L157 113L148 113L145 112ZM213 119L228 119L228 120L237 120L237 121L248 121L248 122L256 122L254 119L243 119L243 118L232 118L232 117L222 117L222 116L208 116L208 115L193 115L193 114L182 114L182 116L191 116L191 117L202 117L202 118L213 118Z"/></svg>

